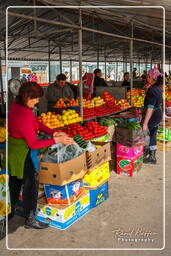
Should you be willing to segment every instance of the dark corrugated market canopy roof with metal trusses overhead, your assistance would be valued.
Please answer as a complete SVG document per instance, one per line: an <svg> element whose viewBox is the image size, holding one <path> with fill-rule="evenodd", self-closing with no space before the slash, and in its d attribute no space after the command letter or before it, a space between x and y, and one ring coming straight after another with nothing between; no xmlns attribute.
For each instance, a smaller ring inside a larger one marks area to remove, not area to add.
<svg viewBox="0 0 171 256"><path fill-rule="evenodd" d="M20 60L78 60L78 8L48 8L47 6L90 6L82 9L83 61L129 62L129 40L133 26L134 60L157 61L162 56L163 8L159 0L1 0L0 49L5 57L5 10L8 6L8 57ZM44 8L17 8L17 6ZM92 8L91 6L138 6L142 8ZM171 1L162 1L166 9L166 59L171 58ZM36 11L35 11L36 10ZM33 20L34 17L36 19ZM63 23L64 26L61 26ZM65 25L67 24L67 25ZM133 25L132 25L133 24ZM93 31L92 31L93 29ZM97 31L109 33L96 33ZM118 36L111 36L115 34ZM109 36L110 35L110 36ZM120 37L119 37L120 36ZM123 39L122 37L125 37ZM144 41L143 41L144 40ZM152 41L147 43L146 41ZM50 50L50 52L49 52Z"/></svg>

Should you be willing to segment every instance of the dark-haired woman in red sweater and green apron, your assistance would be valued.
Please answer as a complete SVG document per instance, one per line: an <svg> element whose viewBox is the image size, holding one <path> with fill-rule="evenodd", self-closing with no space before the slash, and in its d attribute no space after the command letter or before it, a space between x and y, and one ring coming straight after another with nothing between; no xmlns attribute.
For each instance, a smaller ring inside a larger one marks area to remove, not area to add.
<svg viewBox="0 0 171 256"><path fill-rule="evenodd" d="M10 197L12 215L23 185L25 228L46 228L48 225L35 219L38 196L37 149L56 143L72 144L73 140L64 133L54 132L33 114L33 107L43 96L43 89L35 82L24 83L16 101L11 105L8 116L8 170L10 172ZM39 140L38 131L52 138Z"/></svg>

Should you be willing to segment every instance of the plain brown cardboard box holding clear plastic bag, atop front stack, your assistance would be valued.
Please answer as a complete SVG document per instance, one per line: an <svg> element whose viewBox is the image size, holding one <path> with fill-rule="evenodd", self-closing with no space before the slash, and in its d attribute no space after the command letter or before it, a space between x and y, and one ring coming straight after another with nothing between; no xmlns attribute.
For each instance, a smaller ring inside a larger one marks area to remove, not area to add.
<svg viewBox="0 0 171 256"><path fill-rule="evenodd" d="M40 162L39 182L63 186L82 179L87 172L86 154L82 154L65 163Z"/></svg>

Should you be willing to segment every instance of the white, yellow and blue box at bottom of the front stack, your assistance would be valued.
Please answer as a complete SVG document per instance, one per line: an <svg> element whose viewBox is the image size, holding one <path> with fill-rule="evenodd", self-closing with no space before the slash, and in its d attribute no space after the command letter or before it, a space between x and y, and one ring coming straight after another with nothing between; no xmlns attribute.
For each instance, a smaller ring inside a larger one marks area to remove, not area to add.
<svg viewBox="0 0 171 256"><path fill-rule="evenodd" d="M38 201L36 219L58 229L67 229L90 210L90 193L84 193L69 206L47 205L45 198Z"/></svg>

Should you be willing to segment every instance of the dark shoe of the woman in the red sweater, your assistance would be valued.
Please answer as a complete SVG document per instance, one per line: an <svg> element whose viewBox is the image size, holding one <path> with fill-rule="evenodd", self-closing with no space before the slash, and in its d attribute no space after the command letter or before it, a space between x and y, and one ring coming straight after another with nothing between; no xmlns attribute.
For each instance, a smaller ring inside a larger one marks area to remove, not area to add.
<svg viewBox="0 0 171 256"><path fill-rule="evenodd" d="M33 213L30 213L29 217L25 220L24 228L34 228L34 229L44 229L48 228L49 225L47 223L43 223L39 220L35 219L35 215Z"/></svg>

